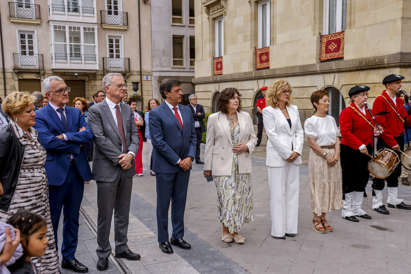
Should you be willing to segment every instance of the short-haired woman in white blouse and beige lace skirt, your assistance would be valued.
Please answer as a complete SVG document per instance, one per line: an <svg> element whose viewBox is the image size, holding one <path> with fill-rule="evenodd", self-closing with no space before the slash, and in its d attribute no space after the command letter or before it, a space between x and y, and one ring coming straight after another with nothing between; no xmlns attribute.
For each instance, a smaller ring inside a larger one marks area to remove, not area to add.
<svg viewBox="0 0 411 274"><path fill-rule="evenodd" d="M305 120L304 131L309 147L308 174L310 204L314 214L312 228L318 233L332 231L326 212L342 206L341 165L339 163L339 130L332 116L328 92L317 90L311 95L316 113Z"/></svg>

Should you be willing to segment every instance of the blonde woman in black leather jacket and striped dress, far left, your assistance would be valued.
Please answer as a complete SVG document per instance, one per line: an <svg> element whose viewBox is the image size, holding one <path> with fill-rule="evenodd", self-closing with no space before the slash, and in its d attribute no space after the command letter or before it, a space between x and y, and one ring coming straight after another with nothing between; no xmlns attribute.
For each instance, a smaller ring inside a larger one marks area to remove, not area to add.
<svg viewBox="0 0 411 274"><path fill-rule="evenodd" d="M53 226L48 203L46 150L37 140L35 98L25 92L12 92L2 104L10 118L0 131L0 182L4 193L0 200L0 220L29 211L42 216L47 223L48 239L43 257L33 259L39 273L59 273Z"/></svg>

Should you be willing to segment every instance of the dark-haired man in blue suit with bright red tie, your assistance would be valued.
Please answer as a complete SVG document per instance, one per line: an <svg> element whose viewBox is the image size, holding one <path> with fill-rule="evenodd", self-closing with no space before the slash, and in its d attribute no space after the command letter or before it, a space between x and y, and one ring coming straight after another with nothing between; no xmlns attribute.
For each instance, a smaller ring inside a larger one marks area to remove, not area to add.
<svg viewBox="0 0 411 274"><path fill-rule="evenodd" d="M169 242L168 217L171 200L171 244L191 249L184 239L184 210L191 163L196 153L193 115L180 105L181 82L166 78L160 85L163 104L150 111L153 166L157 181L157 229L159 249L173 253Z"/></svg>

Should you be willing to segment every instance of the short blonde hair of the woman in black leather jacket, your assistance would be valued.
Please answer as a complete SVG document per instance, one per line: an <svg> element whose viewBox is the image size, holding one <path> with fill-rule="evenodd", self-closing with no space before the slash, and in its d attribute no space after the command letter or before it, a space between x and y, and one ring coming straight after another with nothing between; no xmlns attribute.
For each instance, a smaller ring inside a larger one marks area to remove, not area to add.
<svg viewBox="0 0 411 274"><path fill-rule="evenodd" d="M2 111L13 119L13 114L20 113L28 106L34 104L35 97L28 92L15 91L7 95L1 105Z"/></svg>

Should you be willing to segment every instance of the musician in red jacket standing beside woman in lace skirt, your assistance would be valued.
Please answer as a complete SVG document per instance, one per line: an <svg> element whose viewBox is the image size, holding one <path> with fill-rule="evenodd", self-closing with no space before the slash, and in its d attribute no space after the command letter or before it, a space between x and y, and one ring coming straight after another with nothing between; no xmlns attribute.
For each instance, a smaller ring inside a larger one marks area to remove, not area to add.
<svg viewBox="0 0 411 274"><path fill-rule="evenodd" d="M342 136L339 156L344 193L341 216L353 222L359 222L356 216L371 219L361 205L369 176L367 165L370 158L367 154L372 154L373 136L379 136L380 131L365 109L368 90L369 87L364 85L351 87L348 92L351 105L344 108L339 115ZM382 127L380 129L382 130Z"/></svg>

